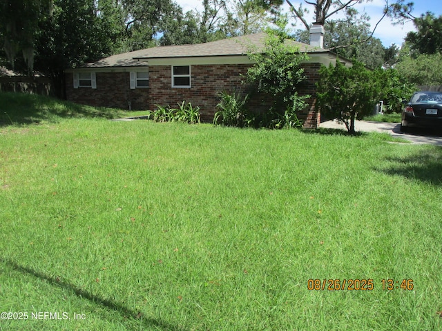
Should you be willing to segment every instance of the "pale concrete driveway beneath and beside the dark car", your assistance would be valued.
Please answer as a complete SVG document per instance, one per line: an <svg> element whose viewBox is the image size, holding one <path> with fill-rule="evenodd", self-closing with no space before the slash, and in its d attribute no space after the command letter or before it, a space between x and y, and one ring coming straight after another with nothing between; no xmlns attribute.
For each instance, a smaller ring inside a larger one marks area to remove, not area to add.
<svg viewBox="0 0 442 331"><path fill-rule="evenodd" d="M336 121L326 121L320 123L320 128L342 129L347 130L344 124ZM391 134L392 137L402 138L411 141L412 143L431 143L433 145L442 146L441 132L432 132L425 129L414 129L411 132L402 133L399 123L384 123L372 121L355 121L354 127L356 131L361 132L383 132Z"/></svg>

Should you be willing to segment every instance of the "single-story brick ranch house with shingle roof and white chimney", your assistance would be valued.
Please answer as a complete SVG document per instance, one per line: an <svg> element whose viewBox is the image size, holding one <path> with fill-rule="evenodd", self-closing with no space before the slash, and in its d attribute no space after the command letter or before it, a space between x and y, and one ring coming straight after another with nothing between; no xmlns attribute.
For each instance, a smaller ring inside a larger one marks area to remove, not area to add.
<svg viewBox="0 0 442 331"><path fill-rule="evenodd" d="M299 94L310 94L309 108L300 119L305 127L316 128L320 114L315 109L318 69L336 62L336 54L320 48L323 27L311 44L297 43L309 60L302 64L307 82ZM159 46L106 57L94 63L65 70L66 96L75 103L131 110L154 110L156 105L171 107L182 101L199 106L203 121L212 121L219 92L245 92L242 74L253 65L247 51L262 49L267 35L250 34L209 43ZM315 39L317 39L315 41ZM342 60L340 60L342 61Z"/></svg>

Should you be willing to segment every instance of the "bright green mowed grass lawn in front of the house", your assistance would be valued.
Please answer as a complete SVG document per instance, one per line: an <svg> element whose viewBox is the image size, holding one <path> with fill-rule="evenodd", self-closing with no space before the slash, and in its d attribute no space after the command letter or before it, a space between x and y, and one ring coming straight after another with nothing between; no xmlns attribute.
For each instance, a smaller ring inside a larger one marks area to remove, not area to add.
<svg viewBox="0 0 442 331"><path fill-rule="evenodd" d="M7 96L0 330L441 330L441 148Z"/></svg>

